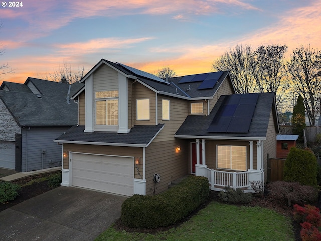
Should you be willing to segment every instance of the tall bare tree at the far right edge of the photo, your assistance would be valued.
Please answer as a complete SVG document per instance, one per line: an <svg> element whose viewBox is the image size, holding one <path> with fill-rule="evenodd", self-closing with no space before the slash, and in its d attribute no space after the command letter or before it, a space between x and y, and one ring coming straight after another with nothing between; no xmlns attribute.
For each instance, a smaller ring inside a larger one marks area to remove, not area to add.
<svg viewBox="0 0 321 241"><path fill-rule="evenodd" d="M321 104L321 52L300 46L293 50L287 67L288 80L294 91L302 95L309 123L314 126Z"/></svg>

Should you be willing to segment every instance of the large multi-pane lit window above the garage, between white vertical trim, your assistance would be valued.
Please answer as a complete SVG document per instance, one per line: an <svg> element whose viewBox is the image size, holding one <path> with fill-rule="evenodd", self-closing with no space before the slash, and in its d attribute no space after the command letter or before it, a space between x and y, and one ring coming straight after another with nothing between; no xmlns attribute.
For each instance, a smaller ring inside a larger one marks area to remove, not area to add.
<svg viewBox="0 0 321 241"><path fill-rule="evenodd" d="M96 125L118 125L118 90L99 91L96 97ZM98 99L98 100L97 100Z"/></svg>

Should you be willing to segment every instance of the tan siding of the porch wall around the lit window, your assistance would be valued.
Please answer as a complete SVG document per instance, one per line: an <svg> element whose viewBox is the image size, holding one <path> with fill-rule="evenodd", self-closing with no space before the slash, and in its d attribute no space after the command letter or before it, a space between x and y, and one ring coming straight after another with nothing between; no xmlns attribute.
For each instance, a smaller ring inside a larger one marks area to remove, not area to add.
<svg viewBox="0 0 321 241"><path fill-rule="evenodd" d="M228 146L246 146L246 168L250 169L250 141L224 141L224 140L205 140L205 153L206 153L206 165L210 169L220 171L234 171L229 169L218 169L216 167L216 146L217 145L228 145ZM191 148L191 146L189 146ZM253 141L253 168L257 168L257 149L256 141ZM191 158L189 156L189 158ZM191 160L190 160L191 162Z"/></svg>

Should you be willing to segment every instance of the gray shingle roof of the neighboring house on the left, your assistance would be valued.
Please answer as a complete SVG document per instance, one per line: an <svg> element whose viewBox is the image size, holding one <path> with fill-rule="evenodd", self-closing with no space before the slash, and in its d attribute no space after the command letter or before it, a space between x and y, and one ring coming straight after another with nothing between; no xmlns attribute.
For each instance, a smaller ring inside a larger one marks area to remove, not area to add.
<svg viewBox="0 0 321 241"><path fill-rule="evenodd" d="M29 77L24 86L27 87L28 81L31 81L41 94L0 91L0 99L18 125L73 126L77 124L77 104L74 101L67 103L69 84ZM81 83L72 84L70 92L77 92L83 86L84 84Z"/></svg>

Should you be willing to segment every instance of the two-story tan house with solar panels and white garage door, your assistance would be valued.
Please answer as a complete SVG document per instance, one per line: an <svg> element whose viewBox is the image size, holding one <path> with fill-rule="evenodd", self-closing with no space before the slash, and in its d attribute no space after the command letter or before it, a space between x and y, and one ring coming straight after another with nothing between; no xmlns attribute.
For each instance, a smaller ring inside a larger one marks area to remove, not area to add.
<svg viewBox="0 0 321 241"><path fill-rule="evenodd" d="M229 72L163 80L104 59L80 82L78 125L55 140L63 186L131 196L188 174L212 190L266 180L279 133L273 93L235 95Z"/></svg>

